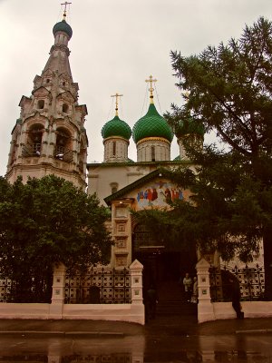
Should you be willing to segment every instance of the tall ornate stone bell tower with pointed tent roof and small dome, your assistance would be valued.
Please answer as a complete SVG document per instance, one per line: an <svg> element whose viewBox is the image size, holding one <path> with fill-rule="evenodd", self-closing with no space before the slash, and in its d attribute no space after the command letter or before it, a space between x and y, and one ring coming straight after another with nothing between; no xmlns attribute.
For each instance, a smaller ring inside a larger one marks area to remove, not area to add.
<svg viewBox="0 0 272 363"><path fill-rule="evenodd" d="M41 178L54 174L85 188L88 139L84 128L86 105L78 103L68 42L73 30L63 20L53 26L54 44L41 75L34 77L30 97L23 96L20 117L12 131L6 179L19 175Z"/></svg>

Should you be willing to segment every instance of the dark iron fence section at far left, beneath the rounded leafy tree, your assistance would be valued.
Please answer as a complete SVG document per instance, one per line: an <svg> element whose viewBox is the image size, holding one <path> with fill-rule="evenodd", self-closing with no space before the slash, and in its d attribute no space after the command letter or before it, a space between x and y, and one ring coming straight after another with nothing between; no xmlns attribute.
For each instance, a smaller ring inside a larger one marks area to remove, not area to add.
<svg viewBox="0 0 272 363"><path fill-rule="evenodd" d="M48 279L32 278L27 283L11 279L0 279L0 302L44 302L50 303L53 276Z"/></svg>

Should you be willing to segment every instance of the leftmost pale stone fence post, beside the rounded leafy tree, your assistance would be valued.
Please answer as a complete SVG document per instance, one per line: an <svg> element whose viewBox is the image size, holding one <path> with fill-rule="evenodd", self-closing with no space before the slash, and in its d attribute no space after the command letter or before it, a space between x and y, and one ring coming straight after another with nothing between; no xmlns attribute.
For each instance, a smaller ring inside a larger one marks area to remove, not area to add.
<svg viewBox="0 0 272 363"><path fill-rule="evenodd" d="M53 269L52 299L50 305L50 318L63 319L63 304L65 299L66 268L63 263Z"/></svg>

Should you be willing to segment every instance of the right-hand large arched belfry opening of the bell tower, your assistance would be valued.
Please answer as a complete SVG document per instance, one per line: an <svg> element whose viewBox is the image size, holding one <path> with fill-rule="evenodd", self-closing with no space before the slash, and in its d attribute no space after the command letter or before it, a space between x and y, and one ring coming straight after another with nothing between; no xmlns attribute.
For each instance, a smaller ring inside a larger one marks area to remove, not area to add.
<svg viewBox="0 0 272 363"><path fill-rule="evenodd" d="M64 162L73 161L72 138L70 132L63 127L56 130L54 157Z"/></svg>

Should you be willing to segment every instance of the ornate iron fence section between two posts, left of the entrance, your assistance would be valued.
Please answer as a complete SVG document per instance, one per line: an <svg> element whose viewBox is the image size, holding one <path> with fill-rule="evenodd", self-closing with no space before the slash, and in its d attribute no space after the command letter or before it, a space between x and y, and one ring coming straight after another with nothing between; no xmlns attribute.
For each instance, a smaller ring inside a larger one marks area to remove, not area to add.
<svg viewBox="0 0 272 363"><path fill-rule="evenodd" d="M127 269L92 268L88 273L66 276L66 304L131 303L131 276Z"/></svg>

